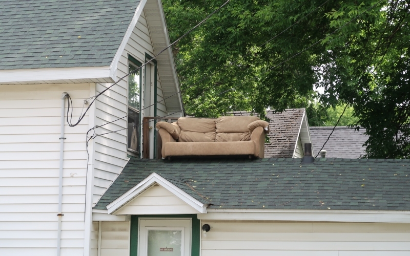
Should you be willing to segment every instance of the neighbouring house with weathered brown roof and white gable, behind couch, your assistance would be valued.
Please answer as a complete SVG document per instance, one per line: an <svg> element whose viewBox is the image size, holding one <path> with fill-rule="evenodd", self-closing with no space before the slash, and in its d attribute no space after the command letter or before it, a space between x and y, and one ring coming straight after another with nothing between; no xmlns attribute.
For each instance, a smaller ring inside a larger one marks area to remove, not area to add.
<svg viewBox="0 0 410 256"><path fill-rule="evenodd" d="M249 116L251 113L236 111L234 115ZM269 143L265 143L265 157L302 158L304 143L313 143L305 109L286 109L277 113L268 110L266 117L270 120L271 132Z"/></svg>

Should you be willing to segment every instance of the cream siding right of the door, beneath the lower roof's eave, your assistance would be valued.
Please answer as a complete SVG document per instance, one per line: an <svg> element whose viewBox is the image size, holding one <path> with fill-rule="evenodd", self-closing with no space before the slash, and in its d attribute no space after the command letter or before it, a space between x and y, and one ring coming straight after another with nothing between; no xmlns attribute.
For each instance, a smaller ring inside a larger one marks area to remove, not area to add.
<svg viewBox="0 0 410 256"><path fill-rule="evenodd" d="M202 256L410 255L410 224L202 221Z"/></svg>

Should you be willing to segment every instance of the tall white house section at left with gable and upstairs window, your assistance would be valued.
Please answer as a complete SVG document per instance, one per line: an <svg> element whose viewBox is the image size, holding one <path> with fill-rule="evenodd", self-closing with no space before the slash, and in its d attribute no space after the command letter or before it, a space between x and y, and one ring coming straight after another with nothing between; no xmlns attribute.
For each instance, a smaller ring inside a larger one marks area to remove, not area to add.
<svg viewBox="0 0 410 256"><path fill-rule="evenodd" d="M0 9L0 255L90 255L92 206L129 156L155 156L153 118L183 115L161 1Z"/></svg>

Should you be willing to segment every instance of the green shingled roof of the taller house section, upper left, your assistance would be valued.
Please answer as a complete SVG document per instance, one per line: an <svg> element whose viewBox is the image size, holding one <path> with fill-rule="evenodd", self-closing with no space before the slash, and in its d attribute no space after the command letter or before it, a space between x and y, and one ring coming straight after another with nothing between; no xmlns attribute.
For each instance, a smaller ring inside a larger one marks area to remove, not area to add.
<svg viewBox="0 0 410 256"><path fill-rule="evenodd" d="M110 66L138 4L0 0L0 70Z"/></svg>

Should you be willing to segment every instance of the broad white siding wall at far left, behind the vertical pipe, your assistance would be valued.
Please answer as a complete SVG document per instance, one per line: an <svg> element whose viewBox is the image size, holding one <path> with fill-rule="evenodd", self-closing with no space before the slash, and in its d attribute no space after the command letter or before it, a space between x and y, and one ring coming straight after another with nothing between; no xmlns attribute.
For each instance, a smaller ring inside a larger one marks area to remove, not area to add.
<svg viewBox="0 0 410 256"><path fill-rule="evenodd" d="M74 121L93 86L0 87L0 255L55 255L61 94L73 100ZM61 255L84 253L88 121L65 125Z"/></svg>

